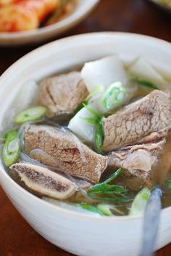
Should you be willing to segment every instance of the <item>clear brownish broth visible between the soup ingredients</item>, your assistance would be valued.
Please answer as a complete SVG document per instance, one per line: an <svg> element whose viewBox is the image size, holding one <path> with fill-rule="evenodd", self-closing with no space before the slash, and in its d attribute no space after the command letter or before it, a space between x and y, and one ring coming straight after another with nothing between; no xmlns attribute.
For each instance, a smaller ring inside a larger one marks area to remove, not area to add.
<svg viewBox="0 0 171 256"><path fill-rule="evenodd" d="M79 65L77 67L74 68L74 70L80 71L82 67ZM72 69L64 71L64 72L70 72L72 71ZM132 102L137 100L138 98L144 97L145 95L147 95L149 92L151 92L151 89L146 89L146 88L141 88L138 89L138 91L135 93ZM31 107L31 105L30 105ZM70 122L70 119L72 119L72 116L74 116L74 114L69 115L69 114L61 114L58 117L49 117L47 116L43 121L41 122L37 122L36 124L47 124L50 125L52 127L64 127L65 129L67 128L67 125ZM79 137L79 136L78 136ZM82 140L79 137L80 140ZM82 142L86 145L88 145L88 147L92 148L94 150L94 147L91 143L87 143L85 142L85 140L82 140ZM152 188L153 185L160 185L160 188L162 188L162 207L169 207L171 205L171 193L170 193L170 188L167 188L167 186L165 185L165 181L166 180L171 180L171 158L170 158L170 154L171 154L171 132L169 133L169 135L167 136L167 140L166 140L166 145L164 146L164 150L162 151L161 155L159 156L159 161L157 162L156 166L153 169L152 172L152 177L151 177L151 183L149 184L144 184L141 183L140 180L136 179L135 177L127 176L124 174L124 170L122 172L121 175L119 175L116 179L114 179L110 184L111 185L121 185L124 188L126 188L127 194L130 198L130 201L128 202L121 202L121 201L113 201L113 202L107 202L103 200L101 201L92 201L91 199L86 198L85 196L83 196L83 193L81 191L78 191L71 196L69 199L64 199L62 201L70 203L70 204L82 204L82 203L87 203L87 204L91 204L93 206L97 206L99 203L107 203L107 204L114 204L114 206L117 207L117 209L120 210L120 213L114 212L114 215L128 215L129 213L129 209L131 207L131 204L133 202L133 199L135 198L136 194L138 191L141 190L141 188L143 188L144 186L148 185L149 188ZM105 153L104 153L105 155ZM49 169L51 169L49 167ZM53 169L52 169L53 170ZM101 180L100 183L104 182L105 180L107 180L107 178L112 175L112 173L114 173L114 171L116 171L117 168L112 168L112 167L107 167L107 169L104 171L104 173L101 175ZM22 187L24 187L25 189L27 189L28 191L30 191L31 193L34 193L36 196L41 197L41 195L39 193L35 193L32 190L30 190L29 188L27 188L27 186L25 185L25 183L23 183L20 179L20 177L18 175L14 175L14 173L12 173L11 171L9 171L9 169L7 169L7 172L9 172L9 175L20 185L22 185ZM75 178L75 177L74 177ZM84 191L88 191L88 188L84 188ZM112 196L109 196L112 198ZM103 198L103 196L102 196Z"/></svg>

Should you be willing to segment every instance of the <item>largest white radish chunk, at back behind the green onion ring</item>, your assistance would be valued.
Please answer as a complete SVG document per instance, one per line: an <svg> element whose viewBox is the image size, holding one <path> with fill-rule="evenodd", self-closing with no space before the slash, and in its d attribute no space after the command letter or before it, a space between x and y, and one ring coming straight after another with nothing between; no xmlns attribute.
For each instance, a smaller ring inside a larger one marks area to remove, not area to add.
<svg viewBox="0 0 171 256"><path fill-rule="evenodd" d="M107 88L115 81L121 81L122 84L127 83L125 68L117 55L86 63L81 71L81 76L89 92L97 86Z"/></svg>

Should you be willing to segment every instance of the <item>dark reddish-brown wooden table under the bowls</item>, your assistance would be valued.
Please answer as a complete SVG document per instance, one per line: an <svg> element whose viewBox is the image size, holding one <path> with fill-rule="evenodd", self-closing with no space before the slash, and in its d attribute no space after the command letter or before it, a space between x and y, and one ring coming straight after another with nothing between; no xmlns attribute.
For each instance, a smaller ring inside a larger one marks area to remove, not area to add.
<svg viewBox="0 0 171 256"><path fill-rule="evenodd" d="M160 11L148 1L101 0L99 6L83 23L62 36L95 31L143 33L171 41L171 15ZM38 46L0 48L0 74L36 47ZM33 231L0 188L0 256L54 255L70 254L50 244ZM171 244L157 252L157 256L170 255Z"/></svg>

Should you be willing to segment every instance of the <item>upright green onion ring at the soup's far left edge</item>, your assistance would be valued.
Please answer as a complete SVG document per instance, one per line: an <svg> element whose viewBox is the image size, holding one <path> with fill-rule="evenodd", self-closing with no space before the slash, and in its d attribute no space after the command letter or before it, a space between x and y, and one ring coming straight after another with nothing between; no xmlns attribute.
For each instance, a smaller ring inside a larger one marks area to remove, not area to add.
<svg viewBox="0 0 171 256"><path fill-rule="evenodd" d="M14 164L20 155L20 139L17 131L9 131L5 135L5 143L2 150L2 159L6 167Z"/></svg>

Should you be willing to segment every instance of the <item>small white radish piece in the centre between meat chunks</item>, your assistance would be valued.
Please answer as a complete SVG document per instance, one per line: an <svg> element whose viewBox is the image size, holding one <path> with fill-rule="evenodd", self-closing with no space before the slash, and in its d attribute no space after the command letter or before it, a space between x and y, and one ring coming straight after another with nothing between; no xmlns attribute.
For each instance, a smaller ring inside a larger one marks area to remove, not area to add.
<svg viewBox="0 0 171 256"><path fill-rule="evenodd" d="M90 105L91 106L91 105ZM83 118L88 117L92 118L92 114L88 111L87 108L82 108L76 115L70 120L68 128L81 137L83 140L86 140L90 143L94 142L96 127L93 124L89 124Z"/></svg>

